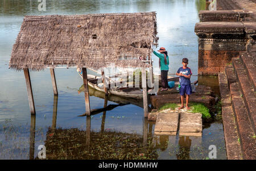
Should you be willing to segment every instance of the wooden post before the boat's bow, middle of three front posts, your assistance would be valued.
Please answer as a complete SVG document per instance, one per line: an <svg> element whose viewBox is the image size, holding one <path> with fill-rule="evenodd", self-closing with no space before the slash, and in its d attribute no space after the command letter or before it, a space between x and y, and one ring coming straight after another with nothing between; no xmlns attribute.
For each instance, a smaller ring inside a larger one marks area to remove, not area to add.
<svg viewBox="0 0 256 171"><path fill-rule="evenodd" d="M82 68L82 79L84 80L85 113L86 115L90 115L90 98L86 68Z"/></svg>

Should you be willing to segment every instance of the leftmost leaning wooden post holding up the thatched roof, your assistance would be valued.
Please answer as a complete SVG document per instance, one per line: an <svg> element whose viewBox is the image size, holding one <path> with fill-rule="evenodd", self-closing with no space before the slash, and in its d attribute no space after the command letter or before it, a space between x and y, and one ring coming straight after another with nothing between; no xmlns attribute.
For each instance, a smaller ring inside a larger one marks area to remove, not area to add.
<svg viewBox="0 0 256 171"><path fill-rule="evenodd" d="M34 103L34 97L33 97L31 80L30 80L30 72L28 71L28 68L24 68L23 71L24 71L24 76L25 76L26 85L27 85L27 96L28 96L28 103L30 104L30 113L35 114L35 103Z"/></svg>

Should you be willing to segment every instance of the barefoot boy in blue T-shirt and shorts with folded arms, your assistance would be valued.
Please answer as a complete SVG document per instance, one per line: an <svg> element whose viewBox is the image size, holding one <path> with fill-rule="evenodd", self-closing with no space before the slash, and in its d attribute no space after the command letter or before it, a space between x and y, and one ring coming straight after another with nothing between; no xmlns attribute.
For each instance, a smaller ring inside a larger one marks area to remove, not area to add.
<svg viewBox="0 0 256 171"><path fill-rule="evenodd" d="M191 72L191 69L187 67L188 65L187 58L182 59L182 65L183 66L180 67L176 73L177 76L180 76L181 106L179 107L179 109L184 108L184 95L186 94L186 108L189 110L190 108L188 107L188 100L189 100L189 95L192 93L191 82L190 82L192 72Z"/></svg>

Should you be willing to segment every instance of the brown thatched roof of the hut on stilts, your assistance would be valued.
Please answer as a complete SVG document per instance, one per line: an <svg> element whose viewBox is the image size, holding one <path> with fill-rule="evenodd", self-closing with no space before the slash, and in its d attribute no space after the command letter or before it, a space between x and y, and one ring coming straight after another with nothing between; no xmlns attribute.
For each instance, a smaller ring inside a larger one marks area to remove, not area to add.
<svg viewBox="0 0 256 171"><path fill-rule="evenodd" d="M155 12L25 16L9 65L148 67L139 56L150 55L156 33Z"/></svg>

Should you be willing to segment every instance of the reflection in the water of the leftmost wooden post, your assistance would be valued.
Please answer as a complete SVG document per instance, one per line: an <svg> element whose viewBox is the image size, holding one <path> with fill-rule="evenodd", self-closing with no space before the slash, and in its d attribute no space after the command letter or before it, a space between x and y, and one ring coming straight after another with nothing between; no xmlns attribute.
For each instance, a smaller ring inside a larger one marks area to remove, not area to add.
<svg viewBox="0 0 256 171"><path fill-rule="evenodd" d="M30 160L33 160L35 153L35 115L31 114L30 117Z"/></svg>

